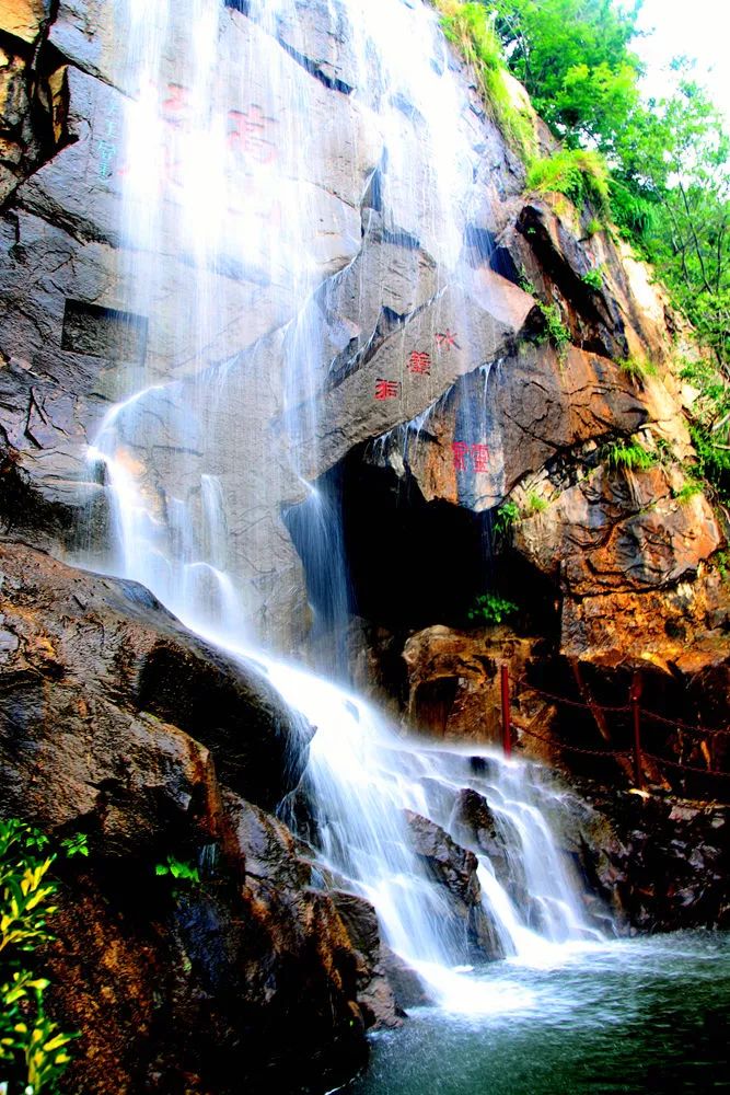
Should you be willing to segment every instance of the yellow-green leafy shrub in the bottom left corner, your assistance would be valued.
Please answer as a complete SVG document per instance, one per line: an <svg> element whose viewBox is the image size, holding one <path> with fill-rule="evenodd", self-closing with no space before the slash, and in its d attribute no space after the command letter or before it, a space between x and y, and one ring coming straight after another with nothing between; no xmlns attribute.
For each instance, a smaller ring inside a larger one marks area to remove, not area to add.
<svg viewBox="0 0 730 1095"><path fill-rule="evenodd" d="M78 1037L48 1018L49 981L32 968L35 950L53 940L47 920L56 912L58 883L48 875L56 856L43 854L47 845L37 829L0 821L0 1087L7 1085L7 1095L60 1092L68 1046Z"/></svg>

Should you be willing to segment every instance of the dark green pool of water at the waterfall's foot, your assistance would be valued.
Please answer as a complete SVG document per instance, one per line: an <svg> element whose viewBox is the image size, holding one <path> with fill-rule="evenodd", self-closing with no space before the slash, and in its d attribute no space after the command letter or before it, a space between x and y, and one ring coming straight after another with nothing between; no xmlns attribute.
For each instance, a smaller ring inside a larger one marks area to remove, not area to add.
<svg viewBox="0 0 730 1095"><path fill-rule="evenodd" d="M347 1095L730 1092L728 934L499 963L471 980L463 1013L419 1008L375 1035Z"/></svg>

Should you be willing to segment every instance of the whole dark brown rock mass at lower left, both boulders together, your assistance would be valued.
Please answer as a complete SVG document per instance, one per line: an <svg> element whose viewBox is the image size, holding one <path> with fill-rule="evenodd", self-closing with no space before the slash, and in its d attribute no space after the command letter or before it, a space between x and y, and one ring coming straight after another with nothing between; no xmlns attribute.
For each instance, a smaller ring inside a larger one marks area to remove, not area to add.
<svg viewBox="0 0 730 1095"><path fill-rule="evenodd" d="M54 1014L83 1031L65 1090L344 1082L398 1014L374 911L315 889L268 812L311 729L134 583L19 543L0 574L0 809L90 850L59 861L44 956ZM199 880L160 875L171 857Z"/></svg>

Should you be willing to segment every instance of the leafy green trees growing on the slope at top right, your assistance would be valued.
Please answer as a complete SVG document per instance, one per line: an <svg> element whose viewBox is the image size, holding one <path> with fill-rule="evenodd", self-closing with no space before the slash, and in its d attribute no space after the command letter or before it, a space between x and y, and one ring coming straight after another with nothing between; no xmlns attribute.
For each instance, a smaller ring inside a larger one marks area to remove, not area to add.
<svg viewBox="0 0 730 1095"><path fill-rule="evenodd" d="M610 217L654 266L730 380L730 136L692 62L673 61L668 94L644 102L631 50L638 0L484 0L484 7L510 69L565 145L557 163L533 165L530 185L579 204L591 189L598 217ZM610 176L593 181L595 173L565 159L570 151L602 153ZM704 438L712 448L706 430ZM721 450L707 453L716 477L725 475L722 464Z"/></svg>

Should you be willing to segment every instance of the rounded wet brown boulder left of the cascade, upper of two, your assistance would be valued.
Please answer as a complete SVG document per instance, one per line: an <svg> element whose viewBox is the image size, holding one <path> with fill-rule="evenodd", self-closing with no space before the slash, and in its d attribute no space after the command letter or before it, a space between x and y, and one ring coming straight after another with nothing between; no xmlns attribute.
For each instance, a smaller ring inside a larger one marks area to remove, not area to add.
<svg viewBox="0 0 730 1095"><path fill-rule="evenodd" d="M297 784L308 731L255 666L135 583L18 543L0 544L0 573L7 811L43 828L85 819L129 852L163 837L165 811L201 809L210 756L269 808Z"/></svg>

